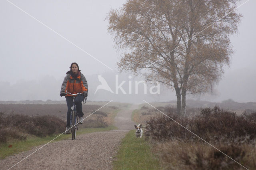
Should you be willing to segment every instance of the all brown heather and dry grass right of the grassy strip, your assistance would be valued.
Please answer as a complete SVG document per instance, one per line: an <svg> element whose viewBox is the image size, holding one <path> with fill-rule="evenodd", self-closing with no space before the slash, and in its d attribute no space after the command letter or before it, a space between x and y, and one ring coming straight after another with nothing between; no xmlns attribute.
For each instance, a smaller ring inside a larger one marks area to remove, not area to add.
<svg viewBox="0 0 256 170"><path fill-rule="evenodd" d="M142 108L147 110L148 108ZM181 117L168 107L168 117L188 128L249 169L256 169L256 112L236 115L218 106L200 109L198 115ZM147 112L149 113L149 112ZM159 113L159 112L158 112ZM244 169L184 127L164 115L151 115L145 135L166 169Z"/></svg>

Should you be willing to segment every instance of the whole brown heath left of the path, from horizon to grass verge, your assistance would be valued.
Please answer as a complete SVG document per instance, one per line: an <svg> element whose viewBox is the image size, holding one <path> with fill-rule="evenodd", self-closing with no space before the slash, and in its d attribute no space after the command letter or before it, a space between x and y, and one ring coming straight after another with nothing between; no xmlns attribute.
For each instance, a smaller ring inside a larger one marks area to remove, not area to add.
<svg viewBox="0 0 256 170"><path fill-rule="evenodd" d="M98 128L111 125L118 111L116 106L83 105L82 128ZM28 135L47 136L64 132L66 128L66 104L0 104L0 143L10 140L26 140Z"/></svg>

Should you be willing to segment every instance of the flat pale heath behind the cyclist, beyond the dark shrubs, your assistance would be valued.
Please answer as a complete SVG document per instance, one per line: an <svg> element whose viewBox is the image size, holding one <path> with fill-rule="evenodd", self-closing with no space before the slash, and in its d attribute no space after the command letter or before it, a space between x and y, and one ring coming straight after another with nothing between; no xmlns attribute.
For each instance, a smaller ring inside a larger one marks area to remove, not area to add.
<svg viewBox="0 0 256 170"><path fill-rule="evenodd" d="M10 117L11 121L18 119L20 123L24 122L22 121L22 119L26 119L26 117L24 116L29 116L30 118L34 119L36 119L37 117L44 117L44 119L51 120L53 119L52 117L56 117L56 120L60 119L66 122L67 105L65 102L61 102L63 104L20 104L21 102L17 103L19 104L0 104L1 114ZM27 101L26 103L36 102ZM40 103L44 102L41 101ZM54 101L52 103L54 103ZM128 107L129 105L126 103L109 103L106 107L100 109L100 107L102 107L106 103L107 102L89 101L85 105L83 105L84 117L87 117L88 115L96 111L93 115L86 119L86 121L88 121L87 123L85 123L86 127L106 127L107 125L112 125L116 113L120 109ZM96 125L97 123L99 124Z"/></svg>

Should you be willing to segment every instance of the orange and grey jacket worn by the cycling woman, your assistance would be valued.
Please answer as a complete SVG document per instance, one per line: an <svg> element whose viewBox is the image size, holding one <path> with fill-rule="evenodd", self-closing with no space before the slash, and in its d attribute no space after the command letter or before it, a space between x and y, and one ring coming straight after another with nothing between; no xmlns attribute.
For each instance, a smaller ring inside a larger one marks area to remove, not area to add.
<svg viewBox="0 0 256 170"><path fill-rule="evenodd" d="M88 84L86 81L86 78L80 71L78 72L78 76L76 79L74 79L71 74L71 71L68 71L66 74L66 77L64 78L64 81L61 85L60 93L84 93L86 91L88 93ZM66 96L72 96L70 94L67 94Z"/></svg>

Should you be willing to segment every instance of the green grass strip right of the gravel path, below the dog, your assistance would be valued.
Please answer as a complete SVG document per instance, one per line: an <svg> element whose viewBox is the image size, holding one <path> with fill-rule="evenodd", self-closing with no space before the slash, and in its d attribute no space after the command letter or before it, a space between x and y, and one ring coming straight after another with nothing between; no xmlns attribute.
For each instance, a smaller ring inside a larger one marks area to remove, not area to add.
<svg viewBox="0 0 256 170"><path fill-rule="evenodd" d="M150 145L144 137L135 138L134 130L122 139L116 158L114 170L159 169L159 161L154 158Z"/></svg>

